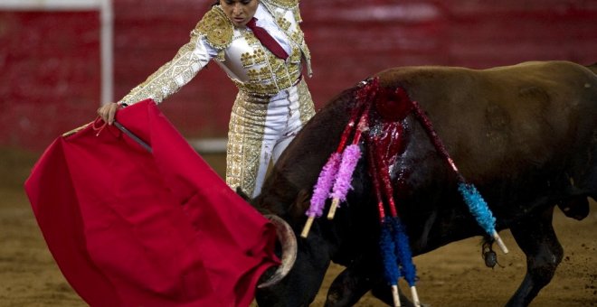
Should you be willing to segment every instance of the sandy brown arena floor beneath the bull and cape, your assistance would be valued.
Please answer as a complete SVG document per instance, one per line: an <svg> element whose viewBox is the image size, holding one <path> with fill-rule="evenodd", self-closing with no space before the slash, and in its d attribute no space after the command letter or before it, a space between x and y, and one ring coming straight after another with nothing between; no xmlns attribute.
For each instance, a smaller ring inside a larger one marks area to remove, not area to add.
<svg viewBox="0 0 597 307"><path fill-rule="evenodd" d="M216 170L223 157L204 156ZM66 283L48 251L24 195L36 154L0 149L0 306L85 306ZM556 209L555 231L564 247L564 261L554 280L531 306L597 306L597 204L583 221L567 219ZM487 268L479 238L470 238L415 258L417 289L431 306L503 306L526 270L521 251L508 231L501 233L511 252L498 252L502 267ZM313 306L325 302L327 286L342 270L332 265ZM357 306L383 306L365 296Z"/></svg>

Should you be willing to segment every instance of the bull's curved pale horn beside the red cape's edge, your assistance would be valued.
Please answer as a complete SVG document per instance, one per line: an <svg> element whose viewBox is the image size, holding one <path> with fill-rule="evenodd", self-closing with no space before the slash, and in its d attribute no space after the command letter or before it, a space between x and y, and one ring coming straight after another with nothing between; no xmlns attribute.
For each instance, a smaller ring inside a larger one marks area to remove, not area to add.
<svg viewBox="0 0 597 307"><path fill-rule="evenodd" d="M266 215L265 217L270 219L270 222L276 227L276 237L282 245L282 264L268 281L257 286L260 289L278 284L282 278L289 274L292 265L297 260L297 237L294 235L292 228L284 219L280 219L278 216Z"/></svg>

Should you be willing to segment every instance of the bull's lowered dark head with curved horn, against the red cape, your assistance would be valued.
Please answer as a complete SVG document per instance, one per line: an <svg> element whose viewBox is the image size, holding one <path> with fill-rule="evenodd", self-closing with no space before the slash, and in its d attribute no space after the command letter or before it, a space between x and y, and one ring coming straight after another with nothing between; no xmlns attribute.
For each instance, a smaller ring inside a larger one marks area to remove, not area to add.
<svg viewBox="0 0 597 307"><path fill-rule="evenodd" d="M310 195L307 190L293 191L288 181L273 189L269 184L266 186L267 191L252 200L237 190L276 226L280 242L281 265L261 275L256 299L260 306L306 306L317 294L329 262L327 250L314 247L322 247L312 242L316 235L300 242L296 237L297 229L304 223ZM280 195L286 197L280 199ZM315 241L321 243L318 239ZM313 256L317 260L312 259Z"/></svg>

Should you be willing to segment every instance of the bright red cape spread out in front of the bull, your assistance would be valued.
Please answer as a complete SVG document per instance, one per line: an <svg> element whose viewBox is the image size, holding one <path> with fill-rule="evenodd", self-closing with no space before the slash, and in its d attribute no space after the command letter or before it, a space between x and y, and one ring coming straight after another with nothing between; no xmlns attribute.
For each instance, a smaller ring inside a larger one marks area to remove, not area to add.
<svg viewBox="0 0 597 307"><path fill-rule="evenodd" d="M91 306L248 306L278 264L275 230L151 100L59 137L25 191L52 255Z"/></svg>

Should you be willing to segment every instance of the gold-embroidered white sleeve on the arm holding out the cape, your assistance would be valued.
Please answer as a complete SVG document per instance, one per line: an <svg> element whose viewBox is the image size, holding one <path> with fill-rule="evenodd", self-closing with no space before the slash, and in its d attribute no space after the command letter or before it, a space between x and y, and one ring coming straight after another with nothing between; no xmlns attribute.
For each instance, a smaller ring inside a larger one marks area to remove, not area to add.
<svg viewBox="0 0 597 307"><path fill-rule="evenodd" d="M202 22L199 22L197 26ZM168 61L143 83L133 88L118 103L132 105L147 98L152 98L156 103L160 103L177 92L193 79L197 72L207 65L209 60L212 60L221 52L207 40L208 38L203 33L195 29L191 32L190 42L187 42L178 50L174 59Z"/></svg>

